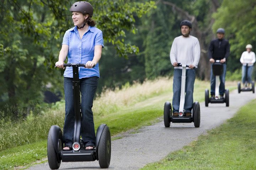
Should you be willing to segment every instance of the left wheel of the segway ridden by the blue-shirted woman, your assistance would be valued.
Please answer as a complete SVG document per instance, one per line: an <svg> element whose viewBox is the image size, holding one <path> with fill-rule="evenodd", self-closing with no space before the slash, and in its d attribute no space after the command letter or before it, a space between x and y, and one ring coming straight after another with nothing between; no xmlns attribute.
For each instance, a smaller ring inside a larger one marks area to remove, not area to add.
<svg viewBox="0 0 256 170"><path fill-rule="evenodd" d="M47 157L50 169L59 169L62 148L62 131L59 126L53 125L49 130L47 139Z"/></svg>

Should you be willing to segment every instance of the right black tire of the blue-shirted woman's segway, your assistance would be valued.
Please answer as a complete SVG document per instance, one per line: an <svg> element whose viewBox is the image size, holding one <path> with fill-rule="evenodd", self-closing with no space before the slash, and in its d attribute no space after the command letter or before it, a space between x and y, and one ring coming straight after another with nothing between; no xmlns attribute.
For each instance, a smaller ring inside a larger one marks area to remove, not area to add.
<svg viewBox="0 0 256 170"><path fill-rule="evenodd" d="M101 168L108 168L111 159L110 129L105 126L98 143L98 161Z"/></svg>

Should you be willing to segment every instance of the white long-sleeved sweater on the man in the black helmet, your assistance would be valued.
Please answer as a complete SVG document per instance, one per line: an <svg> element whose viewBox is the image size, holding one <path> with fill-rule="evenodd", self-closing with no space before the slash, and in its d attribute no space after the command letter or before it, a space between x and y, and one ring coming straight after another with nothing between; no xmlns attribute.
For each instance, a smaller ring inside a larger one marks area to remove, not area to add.
<svg viewBox="0 0 256 170"><path fill-rule="evenodd" d="M200 59L200 45L196 37L189 35L188 37L178 36L174 39L170 52L171 63L192 64L197 68ZM182 69L182 67L175 67ZM188 68L187 68L188 69Z"/></svg>

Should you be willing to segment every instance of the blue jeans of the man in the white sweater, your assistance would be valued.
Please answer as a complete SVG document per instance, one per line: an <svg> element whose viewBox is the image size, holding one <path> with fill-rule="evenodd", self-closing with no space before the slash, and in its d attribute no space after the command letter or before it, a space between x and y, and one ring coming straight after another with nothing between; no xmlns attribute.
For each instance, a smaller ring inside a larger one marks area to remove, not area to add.
<svg viewBox="0 0 256 170"><path fill-rule="evenodd" d="M173 97L172 107L173 112L178 112L180 108L180 95L181 95L181 75L182 69L174 69L174 81L173 81ZM185 112L191 112L193 106L193 92L194 92L194 81L196 78L196 69L186 70L186 87L185 87Z"/></svg>

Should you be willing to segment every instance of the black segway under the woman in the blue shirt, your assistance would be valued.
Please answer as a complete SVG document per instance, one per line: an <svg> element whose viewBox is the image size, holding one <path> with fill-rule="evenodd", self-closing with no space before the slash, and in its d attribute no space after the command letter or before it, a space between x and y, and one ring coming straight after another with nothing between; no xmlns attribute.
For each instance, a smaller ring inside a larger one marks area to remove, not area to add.
<svg viewBox="0 0 256 170"><path fill-rule="evenodd" d="M74 142L70 151L64 151L62 130L57 125L51 126L47 140L47 156L50 169L58 169L62 162L79 162L98 160L101 168L108 168L111 158L111 136L106 124L101 124L96 132L96 146L93 150L85 150L84 142L80 139L81 108L80 108L80 82L78 67L85 64L68 63L64 67L73 67L73 94L74 94Z"/></svg>

